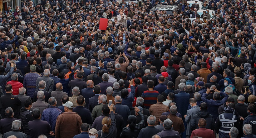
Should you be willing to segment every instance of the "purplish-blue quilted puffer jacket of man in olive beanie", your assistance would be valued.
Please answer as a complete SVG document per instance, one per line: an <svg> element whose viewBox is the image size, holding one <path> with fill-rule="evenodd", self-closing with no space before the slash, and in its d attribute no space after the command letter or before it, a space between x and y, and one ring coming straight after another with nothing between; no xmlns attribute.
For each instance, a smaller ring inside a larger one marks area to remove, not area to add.
<svg viewBox="0 0 256 138"><path fill-rule="evenodd" d="M24 76L23 87L27 90L27 96L31 98L33 98L33 93L36 91L38 77L42 77L42 75L37 72L30 72Z"/></svg>

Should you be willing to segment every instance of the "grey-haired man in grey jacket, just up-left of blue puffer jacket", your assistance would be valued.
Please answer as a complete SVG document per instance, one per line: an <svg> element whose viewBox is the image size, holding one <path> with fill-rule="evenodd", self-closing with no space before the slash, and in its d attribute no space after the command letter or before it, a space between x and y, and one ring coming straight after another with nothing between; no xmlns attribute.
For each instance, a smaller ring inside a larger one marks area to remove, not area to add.
<svg viewBox="0 0 256 138"><path fill-rule="evenodd" d="M33 109L38 108L40 110L40 114L43 113L44 109L47 109L48 107L50 107L50 105L44 101L44 92L43 91L38 91L37 92L37 101L32 103L32 108L31 111L33 111Z"/></svg>

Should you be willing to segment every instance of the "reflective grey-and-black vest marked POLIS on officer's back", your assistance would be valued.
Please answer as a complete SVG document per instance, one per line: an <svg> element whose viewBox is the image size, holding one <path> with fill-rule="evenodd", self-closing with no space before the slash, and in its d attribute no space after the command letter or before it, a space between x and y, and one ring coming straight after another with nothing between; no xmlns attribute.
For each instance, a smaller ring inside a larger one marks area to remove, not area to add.
<svg viewBox="0 0 256 138"><path fill-rule="evenodd" d="M229 130L237 122L237 116L232 113L223 113L219 115L219 138L229 137Z"/></svg>

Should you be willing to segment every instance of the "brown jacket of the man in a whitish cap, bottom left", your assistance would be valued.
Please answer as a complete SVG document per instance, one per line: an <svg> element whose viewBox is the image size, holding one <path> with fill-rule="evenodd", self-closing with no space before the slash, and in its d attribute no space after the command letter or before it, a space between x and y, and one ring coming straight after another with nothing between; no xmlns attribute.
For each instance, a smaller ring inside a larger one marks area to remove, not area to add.
<svg viewBox="0 0 256 138"><path fill-rule="evenodd" d="M71 119L72 118L72 119ZM56 138L73 138L80 134L81 117L75 112L64 112L57 117L55 126Z"/></svg>

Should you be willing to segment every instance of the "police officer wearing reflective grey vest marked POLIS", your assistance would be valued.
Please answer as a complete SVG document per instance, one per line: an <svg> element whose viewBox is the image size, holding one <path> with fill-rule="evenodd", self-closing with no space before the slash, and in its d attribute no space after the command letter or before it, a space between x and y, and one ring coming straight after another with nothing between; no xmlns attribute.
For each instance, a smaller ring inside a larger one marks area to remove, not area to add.
<svg viewBox="0 0 256 138"><path fill-rule="evenodd" d="M229 131L232 127L239 128L239 118L233 114L234 109L234 103L229 103L224 113L218 116L215 123L215 130L216 133L219 133L219 138L229 137Z"/></svg>

